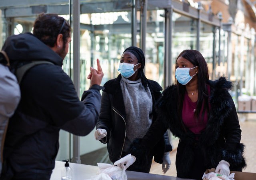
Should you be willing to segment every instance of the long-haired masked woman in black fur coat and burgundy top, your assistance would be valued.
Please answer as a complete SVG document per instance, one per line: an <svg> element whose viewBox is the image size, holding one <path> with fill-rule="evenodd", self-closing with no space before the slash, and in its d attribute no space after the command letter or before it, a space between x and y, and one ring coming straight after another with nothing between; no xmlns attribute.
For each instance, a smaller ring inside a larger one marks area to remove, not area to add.
<svg viewBox="0 0 256 180"><path fill-rule="evenodd" d="M156 103L157 120L130 152L142 163L144 154L169 128L178 137L176 169L179 178L202 180L206 169L228 176L246 166L241 130L229 90L231 82L221 77L209 80L202 54L184 50L176 60L176 84L164 90ZM150 143L151 142L151 143Z"/></svg>

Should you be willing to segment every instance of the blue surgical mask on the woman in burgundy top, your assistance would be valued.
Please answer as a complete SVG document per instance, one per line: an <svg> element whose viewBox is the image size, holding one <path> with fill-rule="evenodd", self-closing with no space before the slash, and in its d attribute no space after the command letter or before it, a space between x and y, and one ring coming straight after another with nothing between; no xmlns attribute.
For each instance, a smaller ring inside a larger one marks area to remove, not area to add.
<svg viewBox="0 0 256 180"><path fill-rule="evenodd" d="M197 66L195 66L194 68L196 67ZM189 75L190 69L194 69L194 68L177 68L175 71L175 77L178 80L178 82L182 85L188 84L188 82L190 82L190 80L196 75L196 74L194 74L193 76Z"/></svg>

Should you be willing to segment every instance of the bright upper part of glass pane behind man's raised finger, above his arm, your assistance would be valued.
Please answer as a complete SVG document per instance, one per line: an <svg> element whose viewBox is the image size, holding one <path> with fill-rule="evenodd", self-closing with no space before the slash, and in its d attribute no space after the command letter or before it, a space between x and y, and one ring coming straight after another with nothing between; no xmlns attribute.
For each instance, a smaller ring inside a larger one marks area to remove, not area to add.
<svg viewBox="0 0 256 180"><path fill-rule="evenodd" d="M90 66L96 66L97 58L104 71L102 84L119 74L120 56L131 44L131 14L128 11L81 14L80 23L80 87L83 91L89 87L86 72L90 72Z"/></svg>

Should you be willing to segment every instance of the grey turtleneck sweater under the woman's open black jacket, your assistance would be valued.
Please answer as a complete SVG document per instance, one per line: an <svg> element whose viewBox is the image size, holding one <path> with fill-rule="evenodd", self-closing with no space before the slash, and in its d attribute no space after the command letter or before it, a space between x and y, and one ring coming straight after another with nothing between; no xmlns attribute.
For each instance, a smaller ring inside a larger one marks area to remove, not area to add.
<svg viewBox="0 0 256 180"><path fill-rule="evenodd" d="M126 151L134 138L142 138L152 123L152 96L141 80L130 81L122 76L120 81L126 112Z"/></svg>

